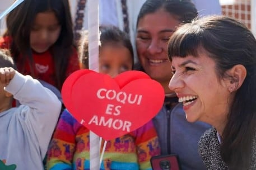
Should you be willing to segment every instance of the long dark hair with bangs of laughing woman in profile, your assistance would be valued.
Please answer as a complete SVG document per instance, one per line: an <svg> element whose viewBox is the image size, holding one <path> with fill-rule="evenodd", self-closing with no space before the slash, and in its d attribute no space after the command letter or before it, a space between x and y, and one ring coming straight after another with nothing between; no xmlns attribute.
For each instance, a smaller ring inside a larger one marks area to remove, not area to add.
<svg viewBox="0 0 256 170"><path fill-rule="evenodd" d="M174 32L168 44L169 59L198 57L205 52L216 62L219 79L235 77L227 70L244 65L246 77L235 92L221 136L221 157L230 169L248 169L256 125L256 40L239 21L212 16L186 23Z"/></svg>

